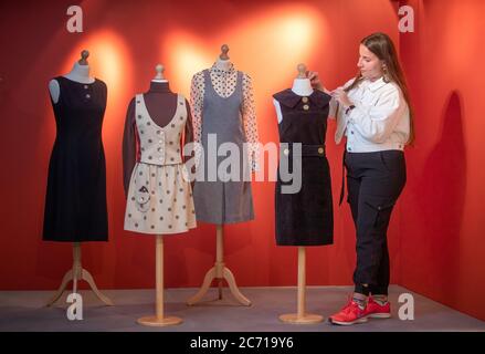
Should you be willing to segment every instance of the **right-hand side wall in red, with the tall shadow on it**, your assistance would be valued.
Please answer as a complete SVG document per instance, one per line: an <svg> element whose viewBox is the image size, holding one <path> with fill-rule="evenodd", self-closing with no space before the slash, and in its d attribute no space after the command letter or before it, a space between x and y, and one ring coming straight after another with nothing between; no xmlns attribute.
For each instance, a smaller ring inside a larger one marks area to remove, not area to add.
<svg viewBox="0 0 485 354"><path fill-rule="evenodd" d="M485 320L483 1L409 1L401 34L417 108L401 206L404 287ZM482 210L482 211L481 211Z"/></svg>

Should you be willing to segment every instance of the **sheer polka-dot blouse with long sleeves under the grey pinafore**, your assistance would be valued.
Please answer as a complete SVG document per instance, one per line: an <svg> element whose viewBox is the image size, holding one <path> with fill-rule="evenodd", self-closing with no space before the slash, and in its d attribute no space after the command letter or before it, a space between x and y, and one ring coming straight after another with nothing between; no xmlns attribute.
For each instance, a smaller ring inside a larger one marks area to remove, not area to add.
<svg viewBox="0 0 485 354"><path fill-rule="evenodd" d="M234 64L230 64L228 71L220 70L215 63L211 66L210 77L211 84L215 92L221 97L229 97L235 90L238 82L238 71ZM243 128L247 142L247 155L252 170L259 169L259 136L256 125L256 107L254 103L253 83L250 75L243 73L242 75L243 104L242 118ZM192 77L190 87L190 105L192 108L192 125L193 125L193 140L201 144L202 142L202 112L203 112L203 95L204 95L204 76L203 71L198 72ZM200 147L199 147L200 148ZM196 164L200 159L200 150L196 145Z"/></svg>

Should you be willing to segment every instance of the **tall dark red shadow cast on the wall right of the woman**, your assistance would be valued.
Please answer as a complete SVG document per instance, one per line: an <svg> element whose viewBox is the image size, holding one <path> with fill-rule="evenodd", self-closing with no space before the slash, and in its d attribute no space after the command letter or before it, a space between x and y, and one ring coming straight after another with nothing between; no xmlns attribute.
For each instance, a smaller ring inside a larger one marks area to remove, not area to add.
<svg viewBox="0 0 485 354"><path fill-rule="evenodd" d="M460 235L466 188L466 154L463 136L462 97L453 91L442 113L442 132L424 165L419 210L425 232L428 277L433 294L446 294L456 303L460 277Z"/></svg>

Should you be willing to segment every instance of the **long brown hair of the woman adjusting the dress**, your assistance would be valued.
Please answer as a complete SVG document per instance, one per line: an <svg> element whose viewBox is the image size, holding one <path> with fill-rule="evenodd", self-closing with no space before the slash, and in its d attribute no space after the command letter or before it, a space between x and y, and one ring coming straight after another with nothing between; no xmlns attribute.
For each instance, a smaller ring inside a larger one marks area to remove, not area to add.
<svg viewBox="0 0 485 354"><path fill-rule="evenodd" d="M414 124L413 116L414 112L411 106L410 95L408 85L405 83L404 73L402 71L401 64L399 62L398 53L394 48L394 43L386 33L377 32L366 37L360 41L361 44L366 45L366 48L376 54L384 63L384 81L396 83L402 92L405 102L409 107L409 122L410 122L410 134L408 143L409 145L413 145L414 143ZM359 73L354 80L352 84L348 86L345 91L348 92L356 87L362 81L362 74Z"/></svg>

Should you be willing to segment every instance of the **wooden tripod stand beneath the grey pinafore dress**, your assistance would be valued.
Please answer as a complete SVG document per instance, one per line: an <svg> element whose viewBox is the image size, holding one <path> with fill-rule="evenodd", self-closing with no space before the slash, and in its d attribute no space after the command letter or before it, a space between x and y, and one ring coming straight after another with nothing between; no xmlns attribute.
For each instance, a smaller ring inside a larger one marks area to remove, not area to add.
<svg viewBox="0 0 485 354"><path fill-rule="evenodd" d="M215 264L205 273L202 287L200 288L199 292L192 298L190 298L187 301L187 304L194 305L197 302L199 302L203 298L203 295L208 292L212 281L215 279L219 282L219 300L222 300L222 281L225 280L235 300L238 300L238 302L240 302L245 306L250 306L251 301L247 300L238 289L233 273L224 264L223 261L224 236L221 225L217 226L215 235L217 235Z"/></svg>

